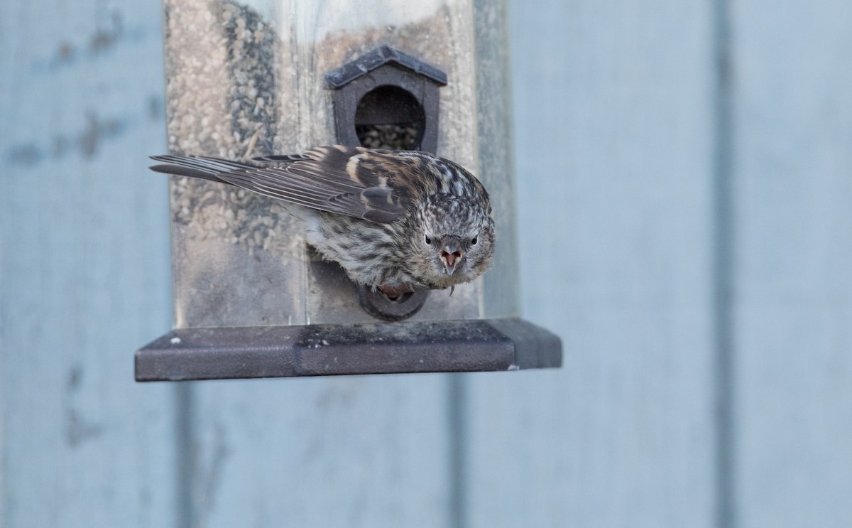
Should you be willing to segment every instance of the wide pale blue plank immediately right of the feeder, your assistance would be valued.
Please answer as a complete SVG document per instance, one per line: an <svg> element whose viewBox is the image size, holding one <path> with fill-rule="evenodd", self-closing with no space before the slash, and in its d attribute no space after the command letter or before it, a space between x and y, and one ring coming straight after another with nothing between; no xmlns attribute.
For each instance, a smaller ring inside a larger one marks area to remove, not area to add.
<svg viewBox="0 0 852 528"><path fill-rule="evenodd" d="M475 375L468 525L714 525L711 5L512 3L524 315Z"/></svg>

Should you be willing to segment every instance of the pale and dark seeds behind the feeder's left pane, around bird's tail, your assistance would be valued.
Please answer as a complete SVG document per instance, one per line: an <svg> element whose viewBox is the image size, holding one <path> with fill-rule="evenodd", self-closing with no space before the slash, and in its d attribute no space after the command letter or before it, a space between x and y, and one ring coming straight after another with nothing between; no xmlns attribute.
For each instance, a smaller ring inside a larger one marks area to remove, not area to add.
<svg viewBox="0 0 852 528"><path fill-rule="evenodd" d="M165 3L170 151L229 160L277 152L279 38L250 7ZM172 218L193 237L249 252L284 241L291 218L277 200L204 180L174 177Z"/></svg>

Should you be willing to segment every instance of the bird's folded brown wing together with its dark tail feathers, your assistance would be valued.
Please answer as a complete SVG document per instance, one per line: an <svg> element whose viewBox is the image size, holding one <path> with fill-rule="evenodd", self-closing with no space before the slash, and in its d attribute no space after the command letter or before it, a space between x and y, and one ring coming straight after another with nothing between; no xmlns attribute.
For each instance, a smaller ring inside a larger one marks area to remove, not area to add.
<svg viewBox="0 0 852 528"><path fill-rule="evenodd" d="M373 154L360 147L320 147L305 154L270 156L256 166L216 158L155 156L158 172L231 183L243 189L320 211L377 223L392 223L406 213L407 187L394 187L394 167L364 163Z"/></svg>

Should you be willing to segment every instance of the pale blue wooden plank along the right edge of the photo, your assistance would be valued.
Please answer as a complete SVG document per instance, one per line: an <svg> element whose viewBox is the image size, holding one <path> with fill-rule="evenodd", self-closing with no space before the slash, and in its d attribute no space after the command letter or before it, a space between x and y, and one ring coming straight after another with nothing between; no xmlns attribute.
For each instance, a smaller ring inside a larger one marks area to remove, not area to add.
<svg viewBox="0 0 852 528"><path fill-rule="evenodd" d="M732 4L736 525L852 519L852 4Z"/></svg>

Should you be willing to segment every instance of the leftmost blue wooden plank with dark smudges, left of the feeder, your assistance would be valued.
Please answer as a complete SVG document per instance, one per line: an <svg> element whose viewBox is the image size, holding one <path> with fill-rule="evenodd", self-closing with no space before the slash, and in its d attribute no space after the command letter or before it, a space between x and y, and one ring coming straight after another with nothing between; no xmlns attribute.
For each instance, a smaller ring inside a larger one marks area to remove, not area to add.
<svg viewBox="0 0 852 528"><path fill-rule="evenodd" d="M0 11L0 526L173 526L159 6Z"/></svg>

